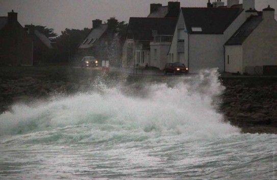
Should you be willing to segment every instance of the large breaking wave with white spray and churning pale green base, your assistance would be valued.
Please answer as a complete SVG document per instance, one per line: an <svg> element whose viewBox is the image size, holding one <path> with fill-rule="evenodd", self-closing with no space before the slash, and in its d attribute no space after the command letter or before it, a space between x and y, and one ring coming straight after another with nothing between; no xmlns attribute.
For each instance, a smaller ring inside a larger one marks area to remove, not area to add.
<svg viewBox="0 0 277 180"><path fill-rule="evenodd" d="M30 134L35 142L174 141L239 132L217 112L224 87L215 69L169 79L112 86L98 79L88 93L15 104L0 115L0 135Z"/></svg>

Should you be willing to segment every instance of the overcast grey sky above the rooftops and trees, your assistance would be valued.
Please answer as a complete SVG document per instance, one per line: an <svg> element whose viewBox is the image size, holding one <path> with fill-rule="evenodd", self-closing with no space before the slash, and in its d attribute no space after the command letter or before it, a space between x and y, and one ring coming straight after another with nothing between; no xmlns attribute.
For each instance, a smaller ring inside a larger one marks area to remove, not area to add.
<svg viewBox="0 0 277 180"><path fill-rule="evenodd" d="M222 1L226 5L226 0ZM128 23L130 17L146 17L150 11L150 4L160 3L167 6L167 2L166 0L0 0L0 16L8 16L8 12L14 10L18 13L18 21L22 26L31 23L43 25L54 28L54 32L60 35L65 28L91 28L94 19L107 22L110 17L115 17ZM208 0L179 0L179 2L181 7L206 7ZM277 11L277 0L256 0L256 9L259 11L268 5ZM275 19L277 19L276 11Z"/></svg>

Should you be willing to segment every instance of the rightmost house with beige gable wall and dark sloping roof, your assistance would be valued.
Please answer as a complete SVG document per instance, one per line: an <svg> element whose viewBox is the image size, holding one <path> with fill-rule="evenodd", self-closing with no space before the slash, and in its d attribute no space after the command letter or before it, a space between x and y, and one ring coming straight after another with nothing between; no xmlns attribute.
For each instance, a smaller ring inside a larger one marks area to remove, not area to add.
<svg viewBox="0 0 277 180"><path fill-rule="evenodd" d="M224 44L226 72L277 75L277 22L273 8L246 11L246 21Z"/></svg>

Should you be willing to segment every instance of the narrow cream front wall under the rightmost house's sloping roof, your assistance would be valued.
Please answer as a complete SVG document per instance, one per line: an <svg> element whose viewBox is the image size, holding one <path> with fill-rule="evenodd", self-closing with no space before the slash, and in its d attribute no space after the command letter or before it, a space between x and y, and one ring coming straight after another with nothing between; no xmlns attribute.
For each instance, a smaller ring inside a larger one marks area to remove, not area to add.
<svg viewBox="0 0 277 180"><path fill-rule="evenodd" d="M242 49L242 45L225 46L225 72L243 73Z"/></svg>

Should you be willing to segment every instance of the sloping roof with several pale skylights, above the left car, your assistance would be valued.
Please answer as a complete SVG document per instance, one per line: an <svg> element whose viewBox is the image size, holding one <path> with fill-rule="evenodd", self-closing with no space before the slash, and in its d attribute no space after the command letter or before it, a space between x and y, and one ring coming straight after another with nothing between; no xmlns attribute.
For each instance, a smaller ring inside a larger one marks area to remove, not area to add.
<svg viewBox="0 0 277 180"><path fill-rule="evenodd" d="M91 29L88 36L80 44L79 48L90 48L93 44L107 31L108 24L99 24L96 28Z"/></svg>

